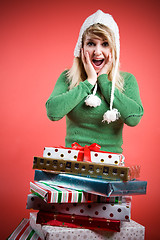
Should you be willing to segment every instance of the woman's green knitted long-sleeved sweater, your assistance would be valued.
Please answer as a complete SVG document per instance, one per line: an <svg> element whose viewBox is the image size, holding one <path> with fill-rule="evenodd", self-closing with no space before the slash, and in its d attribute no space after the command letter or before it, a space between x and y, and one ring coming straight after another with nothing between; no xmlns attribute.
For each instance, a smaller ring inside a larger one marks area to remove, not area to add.
<svg viewBox="0 0 160 240"><path fill-rule="evenodd" d="M84 103L92 93L94 86L87 80L71 90L68 90L68 80L64 71L57 80L54 90L46 102L47 116L57 121L66 116L66 147L73 142L80 145L97 143L101 151L122 153L122 130L124 123L135 126L143 115L143 107L135 77L127 72L121 72L124 78L124 91L117 88L114 93L113 107L121 114L119 120L108 124L102 122L103 114L109 109L111 81L106 74L98 77L96 95L101 98L101 105L89 107Z"/></svg>

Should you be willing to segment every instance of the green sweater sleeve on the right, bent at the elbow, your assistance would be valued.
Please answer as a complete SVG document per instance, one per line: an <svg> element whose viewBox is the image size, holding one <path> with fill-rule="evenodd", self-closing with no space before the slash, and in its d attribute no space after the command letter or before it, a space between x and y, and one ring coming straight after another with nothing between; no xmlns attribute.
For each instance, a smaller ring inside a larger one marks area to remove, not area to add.
<svg viewBox="0 0 160 240"><path fill-rule="evenodd" d="M135 77L130 73L124 73L124 91L115 88L113 107L121 114L121 119L128 126L136 126L143 116L143 106L139 95L139 88ZM110 103L112 82L106 74L98 77L101 92Z"/></svg>

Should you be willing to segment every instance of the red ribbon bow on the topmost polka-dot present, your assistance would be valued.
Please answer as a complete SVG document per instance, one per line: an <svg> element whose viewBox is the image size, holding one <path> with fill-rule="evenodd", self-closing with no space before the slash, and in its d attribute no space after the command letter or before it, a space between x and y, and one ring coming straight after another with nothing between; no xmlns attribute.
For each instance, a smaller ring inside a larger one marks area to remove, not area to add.
<svg viewBox="0 0 160 240"><path fill-rule="evenodd" d="M91 151L97 152L101 148L97 143L93 143L90 146L85 145L82 147L77 142L72 143L72 149L80 150L78 153L77 161L87 161L91 162Z"/></svg>

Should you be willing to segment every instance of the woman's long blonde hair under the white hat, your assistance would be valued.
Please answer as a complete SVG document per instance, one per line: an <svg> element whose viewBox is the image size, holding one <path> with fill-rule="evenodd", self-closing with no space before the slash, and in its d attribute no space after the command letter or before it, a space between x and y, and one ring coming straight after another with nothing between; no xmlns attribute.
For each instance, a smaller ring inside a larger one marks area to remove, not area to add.
<svg viewBox="0 0 160 240"><path fill-rule="evenodd" d="M99 24L99 23L93 24L89 28L87 28L86 31L83 33L82 47L83 47L83 42L85 40L86 35L89 35L92 38L98 37L100 39L108 41L108 44L112 52L112 58L113 58L112 69L108 74L108 79L112 81L113 73L115 70L115 63L117 60L116 44L115 44L115 38L114 38L113 32L103 24ZM74 58L73 65L67 72L67 77L70 83L69 89L72 89L73 87L77 86L80 82L87 79L87 74L85 72L85 69L80 57ZM120 75L120 71L118 69L116 74L115 86L122 92L123 85L124 85L124 79Z"/></svg>

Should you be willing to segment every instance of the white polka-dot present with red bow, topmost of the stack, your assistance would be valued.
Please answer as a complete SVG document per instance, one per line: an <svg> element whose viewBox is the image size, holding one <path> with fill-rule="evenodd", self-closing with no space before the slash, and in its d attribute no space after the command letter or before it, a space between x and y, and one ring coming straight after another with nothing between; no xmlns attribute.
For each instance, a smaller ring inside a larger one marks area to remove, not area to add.
<svg viewBox="0 0 160 240"><path fill-rule="evenodd" d="M95 163L124 165L124 156L120 153L99 151L100 146L96 143L82 147L78 143L73 143L72 148L45 147L43 157L59 160L89 161Z"/></svg>

